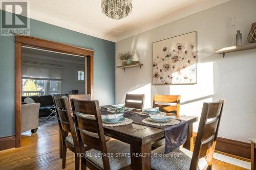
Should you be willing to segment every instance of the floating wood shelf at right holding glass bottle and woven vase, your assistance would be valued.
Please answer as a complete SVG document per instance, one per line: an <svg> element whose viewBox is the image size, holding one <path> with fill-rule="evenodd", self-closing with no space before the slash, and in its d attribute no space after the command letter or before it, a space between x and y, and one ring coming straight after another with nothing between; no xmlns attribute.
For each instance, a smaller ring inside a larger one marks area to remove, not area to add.
<svg viewBox="0 0 256 170"><path fill-rule="evenodd" d="M250 50L256 48L256 43L250 43L245 45L239 45L239 46L229 46L225 48L221 48L219 50L216 50L215 52L217 54L222 54L223 58L225 57L225 53L231 53L231 52L238 52L243 50Z"/></svg>

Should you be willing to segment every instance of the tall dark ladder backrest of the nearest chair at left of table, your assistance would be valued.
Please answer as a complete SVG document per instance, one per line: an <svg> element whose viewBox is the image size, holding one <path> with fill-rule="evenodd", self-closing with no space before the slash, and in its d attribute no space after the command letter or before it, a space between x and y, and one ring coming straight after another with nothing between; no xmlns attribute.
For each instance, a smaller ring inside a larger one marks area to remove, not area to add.
<svg viewBox="0 0 256 170"><path fill-rule="evenodd" d="M81 101L73 99L75 107L75 121L78 135L78 141L81 149L83 144L88 148L98 150L102 153L104 169L110 170L110 162L107 157L106 141L101 120L100 107L98 101ZM79 113L78 113L79 112ZM82 114L93 115L91 117L82 116ZM84 152L84 150L82 150Z"/></svg>

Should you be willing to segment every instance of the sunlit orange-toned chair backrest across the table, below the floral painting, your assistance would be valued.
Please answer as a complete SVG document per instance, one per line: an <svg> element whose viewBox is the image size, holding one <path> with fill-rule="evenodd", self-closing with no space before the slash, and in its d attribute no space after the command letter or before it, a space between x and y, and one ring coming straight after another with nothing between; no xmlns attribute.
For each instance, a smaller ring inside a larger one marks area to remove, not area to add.
<svg viewBox="0 0 256 170"><path fill-rule="evenodd" d="M155 94L153 98L153 107L159 107L159 110L162 112L175 113L179 115L180 95Z"/></svg>

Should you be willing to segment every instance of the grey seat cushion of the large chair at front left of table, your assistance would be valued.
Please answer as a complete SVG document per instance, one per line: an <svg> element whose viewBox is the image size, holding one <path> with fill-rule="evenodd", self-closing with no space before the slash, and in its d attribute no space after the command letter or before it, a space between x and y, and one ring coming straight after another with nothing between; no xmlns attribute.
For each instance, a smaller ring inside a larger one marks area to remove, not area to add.
<svg viewBox="0 0 256 170"><path fill-rule="evenodd" d="M119 140L111 140L106 142L106 148L108 149L108 153L112 154L109 157L111 170L117 170L131 164L130 144ZM104 169L102 157L97 156L100 154L100 151L91 149L86 152L86 158Z"/></svg>

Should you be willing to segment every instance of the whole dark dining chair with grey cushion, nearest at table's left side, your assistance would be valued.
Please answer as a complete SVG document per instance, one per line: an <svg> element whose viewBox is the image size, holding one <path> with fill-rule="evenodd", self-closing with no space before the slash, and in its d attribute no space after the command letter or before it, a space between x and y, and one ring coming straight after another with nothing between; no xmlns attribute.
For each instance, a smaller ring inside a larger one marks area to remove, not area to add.
<svg viewBox="0 0 256 170"><path fill-rule="evenodd" d="M118 140L105 141L98 101L74 100L74 106L78 141L81 152L86 153L81 157L82 169L131 169L130 144ZM84 144L92 149L86 152ZM126 156L116 155L119 153Z"/></svg>

